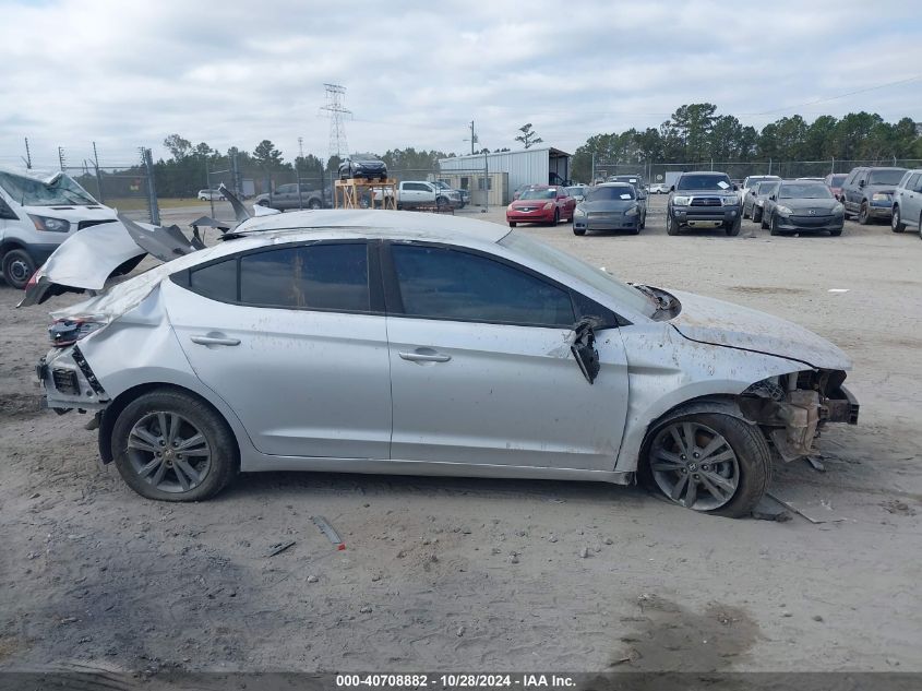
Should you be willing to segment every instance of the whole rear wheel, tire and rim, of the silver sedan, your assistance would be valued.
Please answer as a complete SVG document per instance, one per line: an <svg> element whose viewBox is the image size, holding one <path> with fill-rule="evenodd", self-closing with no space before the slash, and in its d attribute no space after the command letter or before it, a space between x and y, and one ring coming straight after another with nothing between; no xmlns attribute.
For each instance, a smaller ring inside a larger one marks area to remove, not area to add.
<svg viewBox="0 0 922 691"><path fill-rule="evenodd" d="M176 391L152 391L129 403L116 419L111 443L122 479L147 499L207 499L237 473L237 444L227 424L202 401Z"/></svg>

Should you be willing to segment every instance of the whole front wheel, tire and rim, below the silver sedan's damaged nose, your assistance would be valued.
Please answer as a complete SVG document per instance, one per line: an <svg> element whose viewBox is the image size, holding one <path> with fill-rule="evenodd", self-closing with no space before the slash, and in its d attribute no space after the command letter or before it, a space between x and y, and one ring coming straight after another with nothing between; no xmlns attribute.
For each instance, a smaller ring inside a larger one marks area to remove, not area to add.
<svg viewBox="0 0 922 691"><path fill-rule="evenodd" d="M771 452L758 427L722 413L693 413L650 432L639 472L647 487L680 507L739 519L768 488Z"/></svg>

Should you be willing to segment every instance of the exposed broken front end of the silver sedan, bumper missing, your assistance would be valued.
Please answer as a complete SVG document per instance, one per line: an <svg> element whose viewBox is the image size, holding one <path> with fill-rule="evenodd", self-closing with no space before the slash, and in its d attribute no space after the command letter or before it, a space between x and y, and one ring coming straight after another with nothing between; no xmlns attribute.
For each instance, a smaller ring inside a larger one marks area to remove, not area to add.
<svg viewBox="0 0 922 691"><path fill-rule="evenodd" d="M859 404L843 380L841 371L795 372L753 384L738 403L790 462L814 453L813 442L826 424L858 424Z"/></svg>

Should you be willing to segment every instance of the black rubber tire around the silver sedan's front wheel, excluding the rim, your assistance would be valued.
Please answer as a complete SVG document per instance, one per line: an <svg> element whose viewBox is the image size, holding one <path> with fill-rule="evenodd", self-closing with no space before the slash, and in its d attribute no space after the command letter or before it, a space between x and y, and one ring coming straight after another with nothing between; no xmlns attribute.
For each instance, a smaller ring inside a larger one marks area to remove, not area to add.
<svg viewBox="0 0 922 691"><path fill-rule="evenodd" d="M719 433L737 458L739 475L735 478L735 490L729 501L715 509L698 510L730 519L750 515L767 491L771 480L771 451L758 427L725 413L705 412L686 415L680 413L678 416L661 420L647 433L647 439L644 441L637 468L640 481L655 493L666 496L664 489L657 482L651 468L650 452L654 451L654 442L661 430L681 422L702 425ZM666 498L684 505L671 497L666 496ZM694 508L694 504L690 508Z"/></svg>

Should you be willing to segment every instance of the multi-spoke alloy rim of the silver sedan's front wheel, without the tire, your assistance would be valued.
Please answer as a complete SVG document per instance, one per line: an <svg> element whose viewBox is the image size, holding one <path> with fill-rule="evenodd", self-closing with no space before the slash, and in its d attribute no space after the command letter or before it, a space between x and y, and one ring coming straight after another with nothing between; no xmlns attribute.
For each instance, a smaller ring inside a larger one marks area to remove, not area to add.
<svg viewBox="0 0 922 691"><path fill-rule="evenodd" d="M667 425L652 440L650 470L659 489L687 509L727 504L740 484L740 462L716 430L695 421Z"/></svg>

